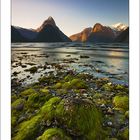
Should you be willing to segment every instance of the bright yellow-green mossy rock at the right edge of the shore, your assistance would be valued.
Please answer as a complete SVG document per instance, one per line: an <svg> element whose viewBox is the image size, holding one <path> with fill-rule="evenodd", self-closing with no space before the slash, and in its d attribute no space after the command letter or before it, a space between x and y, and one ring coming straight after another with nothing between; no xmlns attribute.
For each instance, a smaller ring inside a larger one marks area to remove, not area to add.
<svg viewBox="0 0 140 140"><path fill-rule="evenodd" d="M113 104L115 108L127 111L129 109L129 98L128 96L115 96L113 98Z"/></svg>

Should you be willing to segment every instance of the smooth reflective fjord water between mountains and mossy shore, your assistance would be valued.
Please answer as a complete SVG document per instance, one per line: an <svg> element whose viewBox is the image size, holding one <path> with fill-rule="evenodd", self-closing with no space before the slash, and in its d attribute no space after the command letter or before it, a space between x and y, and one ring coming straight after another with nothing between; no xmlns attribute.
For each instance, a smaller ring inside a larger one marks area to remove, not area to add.
<svg viewBox="0 0 140 140"><path fill-rule="evenodd" d="M64 71L84 72L99 78L109 78L113 83L128 84L128 44L111 43L12 43L12 78L23 84L36 82L42 75L56 72L51 64L59 64ZM26 69L38 67L31 74ZM47 65L46 69L42 66ZM18 75L14 75L16 72Z"/></svg>

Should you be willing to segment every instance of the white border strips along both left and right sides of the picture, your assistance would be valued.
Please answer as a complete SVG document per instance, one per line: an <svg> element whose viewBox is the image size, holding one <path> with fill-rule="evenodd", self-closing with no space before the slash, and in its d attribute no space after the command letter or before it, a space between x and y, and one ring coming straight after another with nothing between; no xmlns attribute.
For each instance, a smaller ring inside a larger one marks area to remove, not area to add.
<svg viewBox="0 0 140 140"><path fill-rule="evenodd" d="M129 0L130 140L139 140L139 0ZM1 140L11 139L11 1L1 0Z"/></svg>

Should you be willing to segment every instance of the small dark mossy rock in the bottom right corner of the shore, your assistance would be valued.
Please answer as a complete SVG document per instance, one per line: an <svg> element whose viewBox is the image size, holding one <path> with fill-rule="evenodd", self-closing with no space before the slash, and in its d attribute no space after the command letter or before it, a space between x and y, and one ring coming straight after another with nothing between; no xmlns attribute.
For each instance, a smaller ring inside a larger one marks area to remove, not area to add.
<svg viewBox="0 0 140 140"><path fill-rule="evenodd" d="M118 132L119 140L129 140L129 129L128 127Z"/></svg>

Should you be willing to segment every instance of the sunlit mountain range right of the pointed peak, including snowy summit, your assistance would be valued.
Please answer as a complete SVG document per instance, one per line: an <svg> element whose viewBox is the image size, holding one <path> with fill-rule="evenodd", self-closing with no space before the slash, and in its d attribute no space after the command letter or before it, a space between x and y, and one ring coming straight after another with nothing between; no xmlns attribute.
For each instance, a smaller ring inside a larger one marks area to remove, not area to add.
<svg viewBox="0 0 140 140"><path fill-rule="evenodd" d="M117 36L119 36L123 31L125 31L126 28L127 26L121 23L115 24L113 27L103 26L100 23L96 23L93 28L91 28L91 30L88 32L87 36L84 37L84 41L82 39L84 30L80 33L70 36L70 38L72 41L76 42L109 43L114 42L115 38L117 38Z"/></svg>

